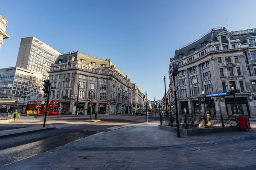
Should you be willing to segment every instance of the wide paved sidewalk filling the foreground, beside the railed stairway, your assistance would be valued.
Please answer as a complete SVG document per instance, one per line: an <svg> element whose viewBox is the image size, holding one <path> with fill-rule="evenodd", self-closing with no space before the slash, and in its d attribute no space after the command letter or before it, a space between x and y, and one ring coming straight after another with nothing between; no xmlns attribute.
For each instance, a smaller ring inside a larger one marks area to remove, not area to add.
<svg viewBox="0 0 256 170"><path fill-rule="evenodd" d="M0 170L256 169L255 131L177 138L176 133L160 130L157 124L97 133Z"/></svg>

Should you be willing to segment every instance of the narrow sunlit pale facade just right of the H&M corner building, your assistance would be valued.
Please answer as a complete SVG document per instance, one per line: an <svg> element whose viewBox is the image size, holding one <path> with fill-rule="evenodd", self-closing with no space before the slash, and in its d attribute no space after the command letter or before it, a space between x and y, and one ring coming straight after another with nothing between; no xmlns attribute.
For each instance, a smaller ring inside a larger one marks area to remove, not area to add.
<svg viewBox="0 0 256 170"><path fill-rule="evenodd" d="M132 85L132 99L133 99L133 113L143 111L143 93L140 91L136 83L131 83Z"/></svg>

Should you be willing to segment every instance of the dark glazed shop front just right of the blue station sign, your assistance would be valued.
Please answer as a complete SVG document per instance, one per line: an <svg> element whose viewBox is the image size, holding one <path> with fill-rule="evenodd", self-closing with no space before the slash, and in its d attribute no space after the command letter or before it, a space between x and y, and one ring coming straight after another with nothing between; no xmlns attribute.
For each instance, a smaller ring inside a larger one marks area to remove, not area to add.
<svg viewBox="0 0 256 170"><path fill-rule="evenodd" d="M238 108L238 113L236 113L236 105L234 102L234 98L225 98L227 114L234 115L234 116L250 116L250 109L247 102L246 97L237 97L236 103Z"/></svg>

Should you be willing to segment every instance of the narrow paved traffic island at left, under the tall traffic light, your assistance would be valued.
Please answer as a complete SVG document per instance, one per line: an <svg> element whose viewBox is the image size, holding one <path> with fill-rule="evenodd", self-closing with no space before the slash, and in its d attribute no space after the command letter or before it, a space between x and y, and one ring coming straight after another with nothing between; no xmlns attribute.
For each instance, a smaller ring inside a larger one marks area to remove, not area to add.
<svg viewBox="0 0 256 170"><path fill-rule="evenodd" d="M55 127L25 127L25 128L19 128L19 129L1 130L0 137L14 136L14 135L20 135L24 133L38 132L38 131L50 130L50 129L55 129Z"/></svg>

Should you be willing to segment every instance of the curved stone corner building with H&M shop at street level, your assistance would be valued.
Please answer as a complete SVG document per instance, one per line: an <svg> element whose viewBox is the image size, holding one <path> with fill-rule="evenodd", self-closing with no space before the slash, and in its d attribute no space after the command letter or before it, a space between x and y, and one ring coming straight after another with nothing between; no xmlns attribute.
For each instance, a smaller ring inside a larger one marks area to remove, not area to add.
<svg viewBox="0 0 256 170"><path fill-rule="evenodd" d="M59 99L62 114L125 114L131 112L131 79L110 59L78 51L60 55L49 71L50 99ZM93 105L88 93L93 93ZM78 101L78 102L76 102Z"/></svg>

